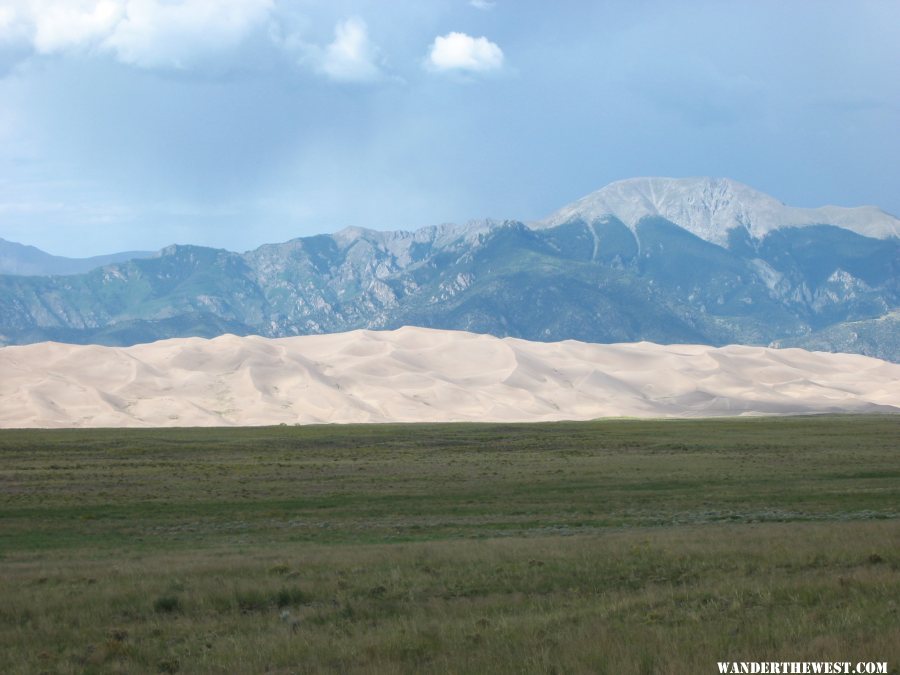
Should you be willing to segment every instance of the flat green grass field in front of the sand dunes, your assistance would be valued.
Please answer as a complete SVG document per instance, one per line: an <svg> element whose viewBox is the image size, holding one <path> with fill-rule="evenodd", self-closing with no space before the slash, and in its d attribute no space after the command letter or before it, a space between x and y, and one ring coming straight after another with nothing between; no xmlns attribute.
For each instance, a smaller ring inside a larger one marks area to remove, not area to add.
<svg viewBox="0 0 900 675"><path fill-rule="evenodd" d="M900 417L0 432L2 673L900 672Z"/></svg>

